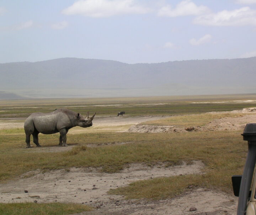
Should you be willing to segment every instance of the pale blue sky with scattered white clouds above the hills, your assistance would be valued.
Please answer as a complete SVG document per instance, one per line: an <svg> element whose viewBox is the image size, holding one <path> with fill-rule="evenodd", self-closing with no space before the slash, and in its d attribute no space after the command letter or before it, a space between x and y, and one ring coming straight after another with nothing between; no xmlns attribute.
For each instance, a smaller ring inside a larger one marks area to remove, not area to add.
<svg viewBox="0 0 256 215"><path fill-rule="evenodd" d="M256 56L256 0L2 0L0 63Z"/></svg>

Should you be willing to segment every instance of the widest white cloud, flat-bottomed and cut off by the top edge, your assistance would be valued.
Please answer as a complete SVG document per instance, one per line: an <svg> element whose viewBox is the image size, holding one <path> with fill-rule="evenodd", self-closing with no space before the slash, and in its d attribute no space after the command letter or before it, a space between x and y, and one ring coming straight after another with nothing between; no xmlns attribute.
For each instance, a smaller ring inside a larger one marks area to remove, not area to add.
<svg viewBox="0 0 256 215"><path fill-rule="evenodd" d="M144 14L149 11L149 8L135 4L134 0L80 0L64 9L62 13L99 18L129 13Z"/></svg>

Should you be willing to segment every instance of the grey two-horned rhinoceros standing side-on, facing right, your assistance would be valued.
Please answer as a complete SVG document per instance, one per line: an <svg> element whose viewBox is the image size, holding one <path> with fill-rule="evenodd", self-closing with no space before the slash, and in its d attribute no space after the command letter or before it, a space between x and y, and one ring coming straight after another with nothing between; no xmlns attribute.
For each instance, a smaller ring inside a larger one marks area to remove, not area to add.
<svg viewBox="0 0 256 215"><path fill-rule="evenodd" d="M96 114L96 113L95 113ZM51 113L43 114L40 112L31 114L24 123L26 133L26 148L31 148L30 136L33 135L33 142L37 147L41 147L38 143L38 134L54 134L60 133L59 145L67 146L66 134L70 128L80 126L83 128L92 126L92 120L95 114L89 118L89 112L86 117L66 108L56 109Z"/></svg>

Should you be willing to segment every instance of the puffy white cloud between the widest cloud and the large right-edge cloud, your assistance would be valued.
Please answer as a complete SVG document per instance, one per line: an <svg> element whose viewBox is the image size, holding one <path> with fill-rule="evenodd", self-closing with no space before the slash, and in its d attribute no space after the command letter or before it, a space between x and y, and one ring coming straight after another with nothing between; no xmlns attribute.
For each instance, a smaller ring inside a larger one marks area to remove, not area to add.
<svg viewBox="0 0 256 215"><path fill-rule="evenodd" d="M161 7L158 11L158 16L190 16L190 15L202 15L209 13L210 10L206 6L197 6L191 0L181 1L176 5L176 8L172 9L170 5Z"/></svg>

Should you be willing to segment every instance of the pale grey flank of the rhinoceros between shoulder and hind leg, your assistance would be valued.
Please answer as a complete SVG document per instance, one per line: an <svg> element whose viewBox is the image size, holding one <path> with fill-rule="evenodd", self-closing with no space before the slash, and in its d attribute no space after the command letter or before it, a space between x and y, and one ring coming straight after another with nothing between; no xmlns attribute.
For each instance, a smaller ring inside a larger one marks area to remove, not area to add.
<svg viewBox="0 0 256 215"><path fill-rule="evenodd" d="M54 114L45 116L36 116L33 118L34 127L38 132L43 134L54 134L58 130L56 128L57 118Z"/></svg>

